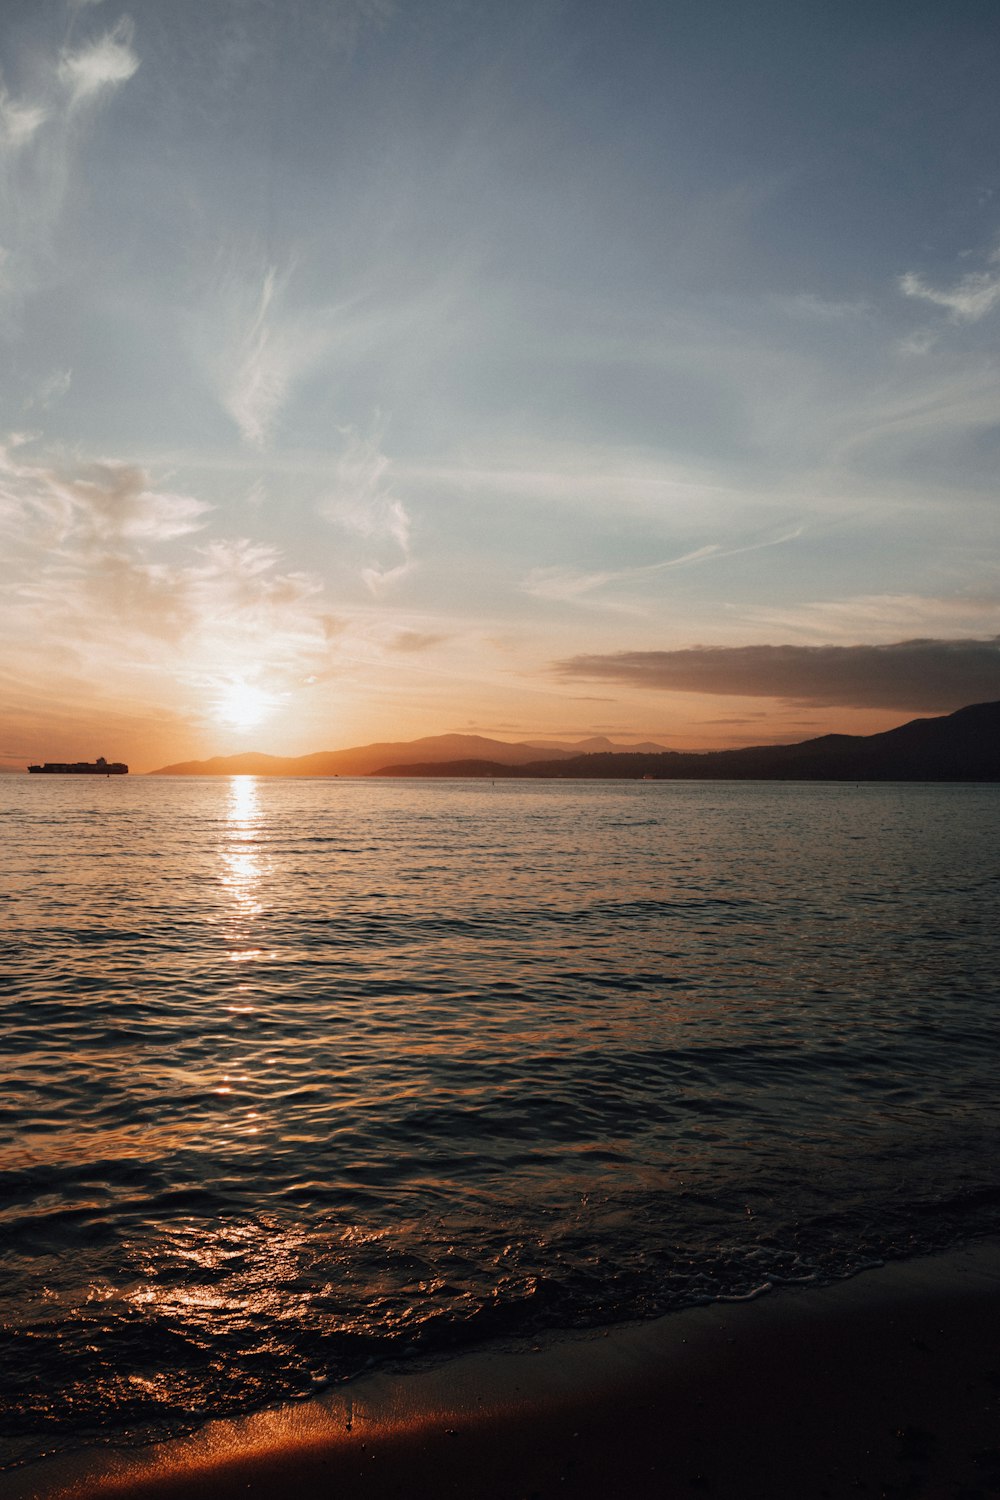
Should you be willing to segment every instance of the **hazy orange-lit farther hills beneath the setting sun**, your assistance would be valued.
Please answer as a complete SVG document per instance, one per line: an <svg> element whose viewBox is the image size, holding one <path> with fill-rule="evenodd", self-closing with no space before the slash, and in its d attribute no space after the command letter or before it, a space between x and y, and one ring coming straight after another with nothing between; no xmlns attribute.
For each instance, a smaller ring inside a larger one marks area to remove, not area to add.
<svg viewBox="0 0 1000 1500"><path fill-rule="evenodd" d="M577 744L559 746L507 744L504 740L487 740L484 735L427 735L423 740L391 740L355 746L351 750L318 750L300 756L261 754L249 750L244 754L214 756L211 760L181 760L150 771L150 776L369 776L400 759L418 759L424 765L439 760L498 760L502 765L522 765L528 760L579 756L591 746L615 750L610 740L597 742L582 740ZM663 746L654 748L661 750Z"/></svg>

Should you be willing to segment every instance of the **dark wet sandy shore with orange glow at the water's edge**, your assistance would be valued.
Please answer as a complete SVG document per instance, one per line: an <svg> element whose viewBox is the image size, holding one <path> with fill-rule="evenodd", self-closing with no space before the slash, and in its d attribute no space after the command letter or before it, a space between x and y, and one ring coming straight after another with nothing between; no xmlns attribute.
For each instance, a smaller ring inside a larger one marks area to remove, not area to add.
<svg viewBox="0 0 1000 1500"><path fill-rule="evenodd" d="M375 1374L0 1500L987 1500L1000 1494L1000 1240L832 1287Z"/></svg>

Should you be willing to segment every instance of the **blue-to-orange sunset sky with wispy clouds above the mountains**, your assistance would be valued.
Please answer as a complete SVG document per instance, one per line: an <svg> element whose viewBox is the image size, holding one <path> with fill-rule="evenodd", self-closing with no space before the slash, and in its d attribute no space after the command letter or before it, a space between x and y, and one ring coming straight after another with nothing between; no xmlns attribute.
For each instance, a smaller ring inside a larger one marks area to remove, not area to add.
<svg viewBox="0 0 1000 1500"><path fill-rule="evenodd" d="M4 0L0 768L1000 698L1000 12Z"/></svg>

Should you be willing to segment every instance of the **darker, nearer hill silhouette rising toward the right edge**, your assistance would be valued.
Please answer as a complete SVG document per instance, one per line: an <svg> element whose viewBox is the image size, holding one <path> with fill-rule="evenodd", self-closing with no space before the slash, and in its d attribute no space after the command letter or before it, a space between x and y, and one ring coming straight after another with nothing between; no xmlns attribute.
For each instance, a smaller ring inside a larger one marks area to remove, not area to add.
<svg viewBox="0 0 1000 1500"><path fill-rule="evenodd" d="M591 777L735 782L1000 782L1000 704L913 718L879 735L822 735L790 746L597 752L520 765L498 758L385 765L378 776Z"/></svg>

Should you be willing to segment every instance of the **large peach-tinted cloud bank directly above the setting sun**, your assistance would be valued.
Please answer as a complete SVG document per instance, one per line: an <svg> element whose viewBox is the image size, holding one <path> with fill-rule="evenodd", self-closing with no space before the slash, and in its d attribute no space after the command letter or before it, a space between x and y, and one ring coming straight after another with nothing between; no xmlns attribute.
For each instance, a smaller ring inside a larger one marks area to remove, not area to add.
<svg viewBox="0 0 1000 1500"><path fill-rule="evenodd" d="M0 594L7 666L42 651L84 675L304 678L330 650L322 582L277 548L202 540L210 510L138 465L61 471L0 450L0 548L21 564Z"/></svg>

